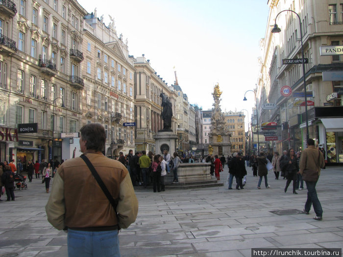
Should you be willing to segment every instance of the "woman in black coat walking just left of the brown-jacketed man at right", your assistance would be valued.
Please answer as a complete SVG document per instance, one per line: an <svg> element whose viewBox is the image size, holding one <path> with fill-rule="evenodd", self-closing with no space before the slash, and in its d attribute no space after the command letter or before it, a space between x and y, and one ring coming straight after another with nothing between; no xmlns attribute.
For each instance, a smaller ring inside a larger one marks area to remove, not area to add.
<svg viewBox="0 0 343 257"><path fill-rule="evenodd" d="M286 187L285 187L285 193L287 192L288 186L291 184L291 181L293 180L293 193L297 194L295 191L296 187L296 173L299 170L298 164L296 162L296 156L294 154L294 149L291 148L287 152L287 156L281 161L283 167L286 166L286 172L285 177L287 178Z"/></svg>

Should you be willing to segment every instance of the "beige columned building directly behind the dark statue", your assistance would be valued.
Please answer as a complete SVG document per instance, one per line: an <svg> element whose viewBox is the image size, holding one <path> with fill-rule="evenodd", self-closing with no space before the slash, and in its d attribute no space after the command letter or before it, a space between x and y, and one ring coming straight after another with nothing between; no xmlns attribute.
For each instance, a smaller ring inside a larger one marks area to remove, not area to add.
<svg viewBox="0 0 343 257"><path fill-rule="evenodd" d="M165 93L172 102L172 131L174 133L176 133L176 94L163 77L152 68L150 60L147 60L144 54L134 58L133 65L136 69L134 75L136 147L139 151L146 150L161 154L161 150L155 148L153 139L153 136L163 129L160 94Z"/></svg>

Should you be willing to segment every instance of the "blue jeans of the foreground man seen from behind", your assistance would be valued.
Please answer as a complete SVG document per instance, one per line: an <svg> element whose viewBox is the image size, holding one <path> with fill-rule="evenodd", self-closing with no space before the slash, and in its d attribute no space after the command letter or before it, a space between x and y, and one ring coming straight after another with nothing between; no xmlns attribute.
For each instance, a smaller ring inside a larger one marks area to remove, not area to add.
<svg viewBox="0 0 343 257"><path fill-rule="evenodd" d="M118 231L68 229L69 257L120 257Z"/></svg>

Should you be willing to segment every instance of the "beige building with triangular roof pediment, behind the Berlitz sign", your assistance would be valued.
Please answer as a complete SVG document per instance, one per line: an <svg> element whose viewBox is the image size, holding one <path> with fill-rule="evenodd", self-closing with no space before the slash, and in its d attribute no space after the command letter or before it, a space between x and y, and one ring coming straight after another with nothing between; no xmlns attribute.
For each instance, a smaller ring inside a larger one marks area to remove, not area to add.
<svg viewBox="0 0 343 257"><path fill-rule="evenodd" d="M118 157L135 149L133 58L127 42L113 23L106 26L93 13L84 19L81 52L71 49L71 58L82 61L82 123L101 123L106 132L104 154ZM73 57L72 57L73 56ZM75 81L77 82L77 80Z"/></svg>

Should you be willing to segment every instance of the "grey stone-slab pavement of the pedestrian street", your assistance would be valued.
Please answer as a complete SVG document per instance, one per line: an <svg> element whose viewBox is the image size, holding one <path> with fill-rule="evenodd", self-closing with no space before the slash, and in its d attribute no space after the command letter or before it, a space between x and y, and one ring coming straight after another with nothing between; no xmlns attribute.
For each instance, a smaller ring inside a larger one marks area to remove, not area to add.
<svg viewBox="0 0 343 257"><path fill-rule="evenodd" d="M223 181L227 172L226 167ZM242 257L257 247L342 248L342 167L322 170L317 185L322 221L313 219L313 209L310 215L301 213L307 190L295 195L291 185L284 193L285 180L275 180L273 173L268 179L270 188L263 181L257 189L258 177L248 168L243 190L228 190L226 184L161 193L137 190L136 223L120 233L122 256ZM67 234L47 221L49 194L41 180L33 179L27 190L15 194L16 201L0 202L0 257L67 256Z"/></svg>

